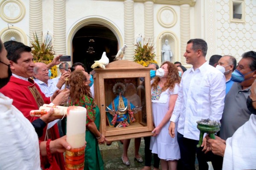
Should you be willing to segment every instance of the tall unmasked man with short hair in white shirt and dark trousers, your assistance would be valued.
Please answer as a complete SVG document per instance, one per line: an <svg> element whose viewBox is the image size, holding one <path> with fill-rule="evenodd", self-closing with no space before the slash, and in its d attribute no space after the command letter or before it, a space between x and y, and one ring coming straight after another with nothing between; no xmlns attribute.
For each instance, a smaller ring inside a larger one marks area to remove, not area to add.
<svg viewBox="0 0 256 170"><path fill-rule="evenodd" d="M177 135L183 170L195 170L195 155L199 170L207 170L206 156L202 147L197 148L199 130L196 121L209 118L220 121L224 108L225 77L210 66L206 59L207 43L202 39L187 42L184 57L192 68L184 72L178 98L170 119L169 133ZM177 125L177 134L175 134Z"/></svg>

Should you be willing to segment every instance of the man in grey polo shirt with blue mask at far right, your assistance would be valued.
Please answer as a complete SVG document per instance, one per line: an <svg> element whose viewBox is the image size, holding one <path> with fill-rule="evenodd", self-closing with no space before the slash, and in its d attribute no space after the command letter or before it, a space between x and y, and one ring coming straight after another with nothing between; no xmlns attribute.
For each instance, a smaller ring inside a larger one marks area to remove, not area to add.
<svg viewBox="0 0 256 170"><path fill-rule="evenodd" d="M246 100L255 79L256 52L245 52L236 70L232 73L231 80L235 83L225 98L220 131L222 139L230 138L239 127L249 120L251 113L247 109ZM222 165L222 161L219 161L219 164Z"/></svg>

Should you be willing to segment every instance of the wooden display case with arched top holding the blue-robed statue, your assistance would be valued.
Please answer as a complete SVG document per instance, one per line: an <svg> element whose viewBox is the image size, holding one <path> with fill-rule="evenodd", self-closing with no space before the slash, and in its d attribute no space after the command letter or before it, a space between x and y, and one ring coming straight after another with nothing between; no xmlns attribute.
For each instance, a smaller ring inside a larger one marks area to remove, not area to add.
<svg viewBox="0 0 256 170"><path fill-rule="evenodd" d="M119 60L93 69L92 75L100 131L108 141L153 135L150 68Z"/></svg>

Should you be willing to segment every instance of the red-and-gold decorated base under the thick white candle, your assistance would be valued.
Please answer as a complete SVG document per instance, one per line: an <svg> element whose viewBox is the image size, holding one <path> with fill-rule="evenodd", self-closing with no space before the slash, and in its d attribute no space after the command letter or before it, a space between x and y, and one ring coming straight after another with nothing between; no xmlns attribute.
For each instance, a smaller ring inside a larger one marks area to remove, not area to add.
<svg viewBox="0 0 256 170"><path fill-rule="evenodd" d="M66 155L65 155L66 170L83 170L84 169L84 149L85 149L85 146L66 150Z"/></svg>

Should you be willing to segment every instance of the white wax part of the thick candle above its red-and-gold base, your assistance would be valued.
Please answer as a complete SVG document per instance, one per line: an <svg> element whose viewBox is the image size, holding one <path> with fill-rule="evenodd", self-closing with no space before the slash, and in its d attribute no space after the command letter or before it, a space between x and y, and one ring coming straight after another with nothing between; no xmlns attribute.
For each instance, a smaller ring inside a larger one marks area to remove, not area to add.
<svg viewBox="0 0 256 170"><path fill-rule="evenodd" d="M87 110L80 106L67 109L67 143L71 148L83 147L85 144Z"/></svg>

